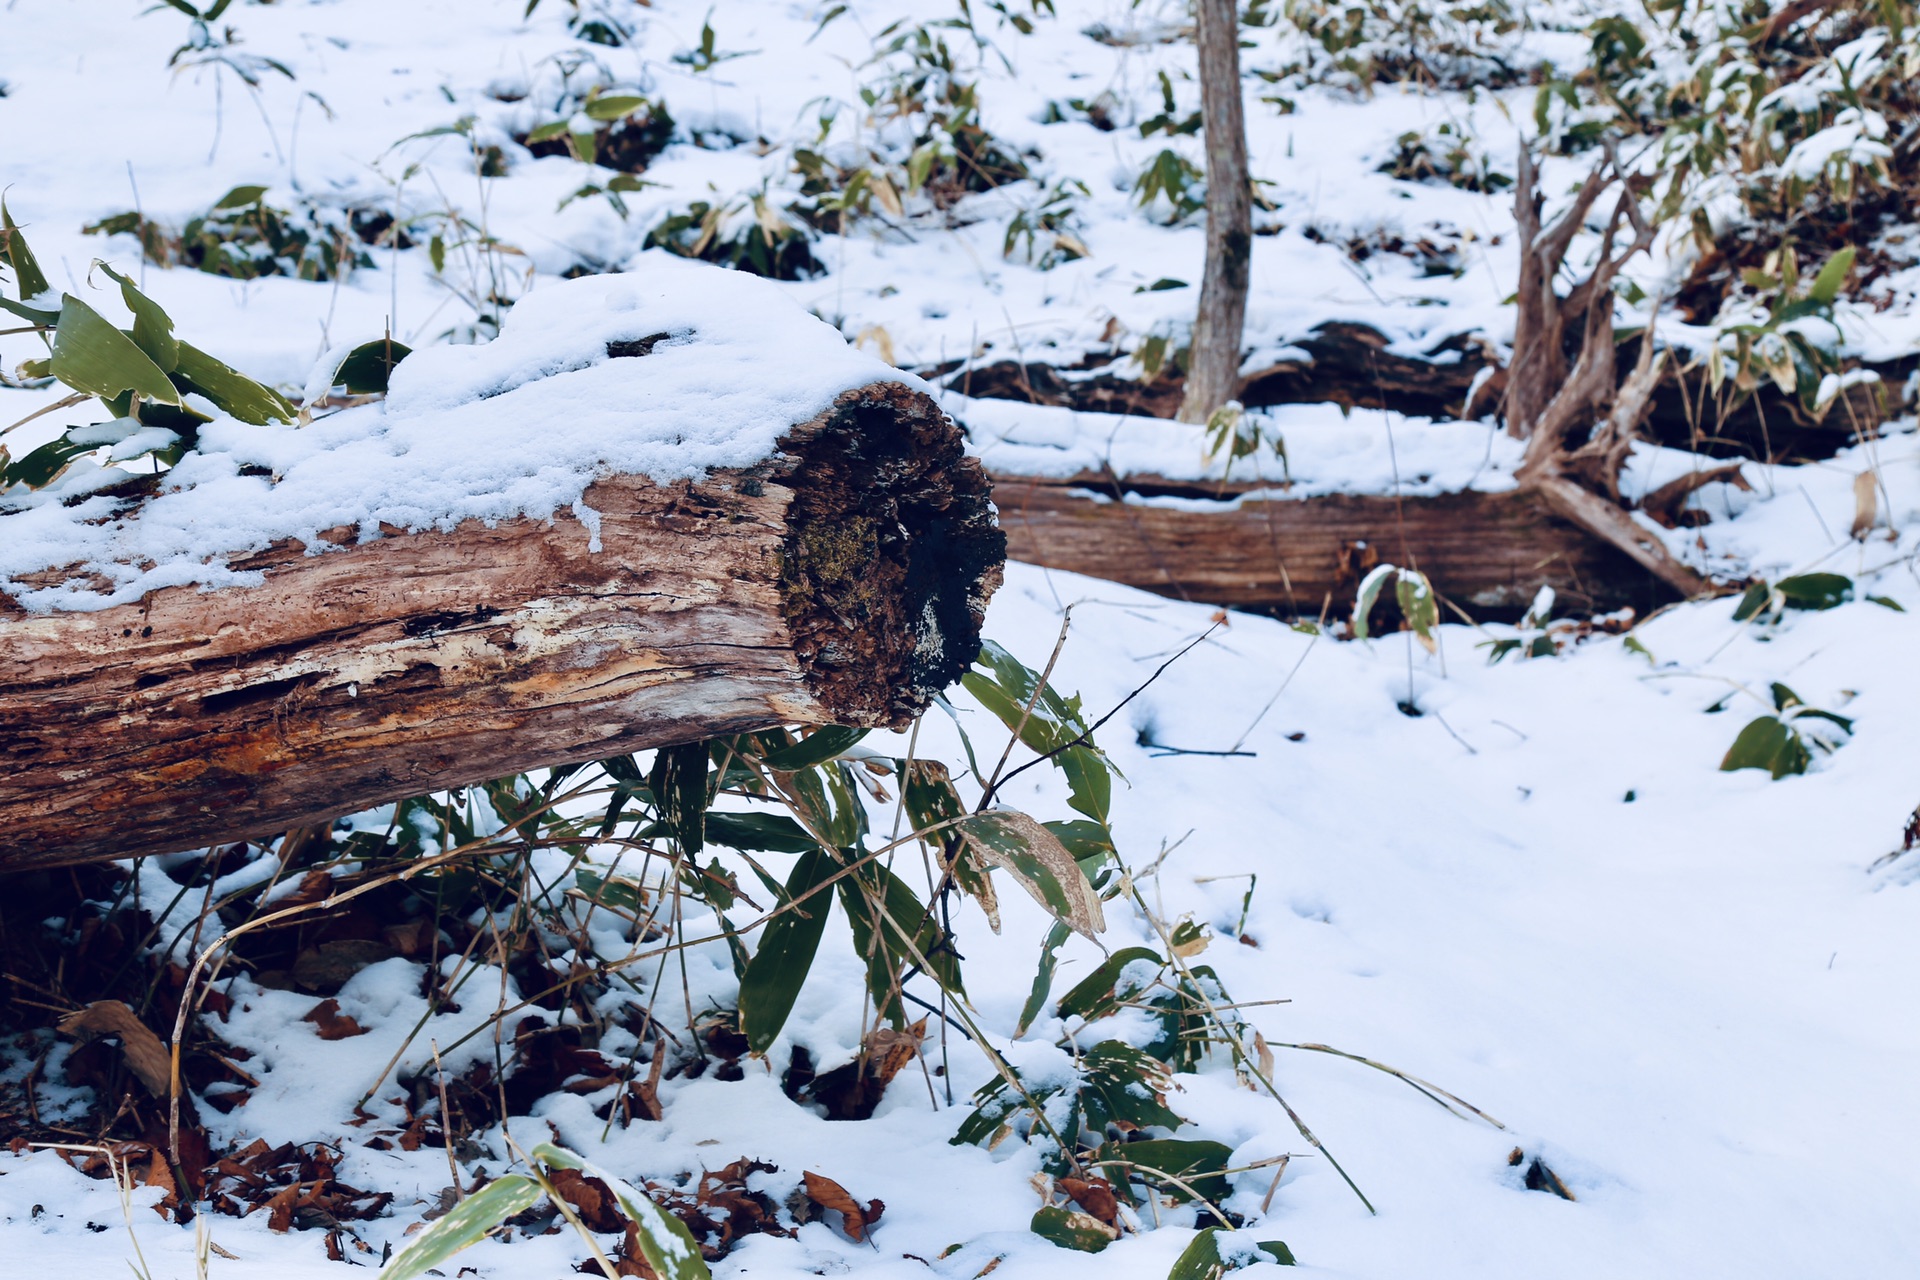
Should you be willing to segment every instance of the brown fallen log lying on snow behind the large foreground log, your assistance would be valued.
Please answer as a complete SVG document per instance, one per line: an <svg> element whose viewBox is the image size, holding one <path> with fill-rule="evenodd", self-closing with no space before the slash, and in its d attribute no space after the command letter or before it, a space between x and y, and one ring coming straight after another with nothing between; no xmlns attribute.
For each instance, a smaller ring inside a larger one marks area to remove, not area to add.
<svg viewBox="0 0 1920 1280"><path fill-rule="evenodd" d="M1672 599L1620 551L1513 489L1286 499L1246 482L996 474L993 497L1016 560L1281 616L1346 616L1382 560L1419 568L1476 620L1519 618L1540 587L1592 612Z"/></svg>

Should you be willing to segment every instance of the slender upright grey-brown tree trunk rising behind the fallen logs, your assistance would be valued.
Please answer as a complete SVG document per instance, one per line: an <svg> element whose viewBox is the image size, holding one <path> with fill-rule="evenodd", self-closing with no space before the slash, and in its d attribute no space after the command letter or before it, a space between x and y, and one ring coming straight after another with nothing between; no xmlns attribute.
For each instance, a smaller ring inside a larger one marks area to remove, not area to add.
<svg viewBox="0 0 1920 1280"><path fill-rule="evenodd" d="M1248 263L1254 251L1252 182L1240 107L1240 17L1235 0L1194 0L1200 113L1206 121L1206 274L1187 365L1181 422L1206 422L1240 391Z"/></svg>

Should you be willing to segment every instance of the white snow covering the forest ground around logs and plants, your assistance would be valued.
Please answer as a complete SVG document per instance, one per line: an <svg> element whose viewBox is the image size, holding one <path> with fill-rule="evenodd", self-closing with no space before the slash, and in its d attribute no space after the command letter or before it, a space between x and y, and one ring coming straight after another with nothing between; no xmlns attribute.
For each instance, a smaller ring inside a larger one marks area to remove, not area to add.
<svg viewBox="0 0 1920 1280"><path fill-rule="evenodd" d="M854 98L872 33L902 13L947 15L854 4L812 36L828 6L739 0L710 17L685 0L607 8L636 27L630 48L570 38L559 0L532 19L518 0L234 6L217 25L238 29L236 52L294 71L267 71L255 102L215 65L167 69L188 27L173 10L13 0L0 8L0 184L54 286L108 315L119 315L115 294L88 288L88 261L138 273L136 251L131 238L84 236L81 226L134 207L134 184L146 215L173 225L242 182L269 184L269 201L280 205L319 196L417 217L453 207L520 251L501 259L511 292L538 292L576 263L634 261L659 215L712 198L708 184L730 198L762 177L783 180L780 152L762 155L753 138L810 136L816 98ZM1060 10L1033 36L995 27L981 12L981 29L1008 59L983 58L983 102L998 136L1039 150L1035 167L1048 184L1087 182L1077 236L1089 257L1048 273L1002 261L1008 201L1035 196L1023 190L970 198L962 213L977 221L956 228L828 238L828 274L778 288L900 365L1037 353L1071 361L1112 334L1150 334L1190 315L1194 288L1137 292L1160 278L1198 280L1200 230L1156 226L1127 192L1167 142L1127 127L1041 123L1048 100L1102 90L1140 115L1158 111L1154 73L1185 67L1190 48L1081 33L1094 23L1150 33L1175 21L1179 6L1091 0ZM701 46L703 21L720 52L753 52L708 71L674 61ZM950 38L972 48L964 35ZM1277 38L1258 33L1248 65L1260 67ZM599 198L555 211L589 177L572 159L520 154L507 177L476 178L461 136L403 140L465 115L476 117L474 136L486 144L543 123L541 94L557 90L553 58L566 50L593 54L618 84L664 98L684 134L747 142L668 148L647 173L659 186L630 194L622 219ZM1173 86L1190 111L1194 86ZM1254 173L1273 182L1273 217L1284 230L1258 238L1250 367L1271 363L1329 317L1371 322L1407 351L1465 330L1505 336L1511 242L1494 244L1509 230L1505 201L1375 173L1400 132L1467 109L1457 96L1398 86L1363 102L1302 94L1294 113L1279 115L1258 106L1258 94L1250 79ZM1521 104L1530 90L1515 94ZM1513 121L1494 109L1496 98L1473 107L1476 125L1511 140ZM1511 115L1524 121L1524 106ZM851 109L841 127L847 121ZM1192 138L1173 146L1198 155ZM1505 150L1501 142L1494 154ZM1354 263L1325 242L1382 230L1411 240L1442 226L1465 246L1459 276L1421 276L1396 255ZM484 261L468 269L453 259L436 274L424 246L372 257L340 284L236 282L186 269L146 269L144 278L184 338L298 390L321 353L388 324L426 345L472 322L455 290L470 284L461 273L484 271ZM1908 315L1862 313L1859 324L1864 345L1910 347ZM8 367L31 355L27 340L0 336ZM0 388L0 422L58 395ZM1206 468L1198 434L1185 428L1012 403L954 409L989 461L1031 470L1075 470L1083 457L1164 474ZM1430 489L1511 484L1513 445L1486 424L1344 418L1331 407L1279 416L1302 491L1382 491L1415 474L1428 476ZM8 443L44 439L65 420L86 418L48 415ZM1645 489L1686 464L1649 451L1628 482ZM1882 484L1880 526L1855 541L1855 478L1868 468ZM1258 1238L1284 1240L1304 1270L1369 1280L1920 1272L1920 1017L1910 992L1920 854L1874 865L1899 846L1920 800L1920 438L1895 432L1809 466L1753 464L1747 478L1753 491L1703 493L1715 520L1693 533L1707 560L1768 578L1841 572L1857 580L1860 599L1745 624L1734 622L1734 601L1688 604L1644 622L1632 647L1597 635L1555 658L1500 664L1476 649L1490 635L1467 626L1442 628L1438 654L1427 654L1409 635L1340 643L1235 616L1102 729L1102 747L1127 777L1114 802L1123 860L1142 873L1162 915L1190 912L1213 925L1204 960L1236 1000L1288 1002L1246 1009L1271 1044L1327 1044L1390 1063L1505 1125L1459 1119L1365 1065L1277 1048L1275 1082L1379 1209L1369 1215L1277 1103L1240 1088L1231 1071L1181 1077L1171 1105L1196 1132L1233 1146L1236 1163L1294 1155L1263 1215L1265 1171L1236 1176L1229 1207L1260 1217ZM1077 691L1091 712L1119 702L1212 624L1204 604L1012 566L987 635L1039 666L1068 606L1073 622L1052 683ZM1740 727L1770 710L1763 699L1772 681L1849 716L1851 741L1805 777L1718 771ZM1405 714L1404 702L1421 714ZM991 737L985 712L958 693L956 704L970 733ZM904 739L893 747L904 748ZM918 750L962 756L943 716L925 720ZM1048 770L1023 773L1004 798L1044 818L1066 812ZM1229 929L1248 873L1258 885L1242 944ZM1039 1061L1058 1025L1043 1019L1021 1040L1008 1036L1044 919L1018 894L1004 894L1002 906L1000 936L972 904L958 917L968 986L1000 1050ZM1112 950L1152 940L1121 904L1110 904L1110 925ZM847 992L862 977L845 929L841 917L829 925L785 1032L816 1055L858 1034ZM1056 992L1096 960L1092 944L1071 940ZM693 975L701 990L724 998L724 952L693 961L708 969ZM374 1034L338 1042L300 1023L298 998L255 990L223 1034L255 1052L261 1088L217 1119L219 1136L351 1140L353 1102L420 1011L399 977L376 967L353 979L342 1007ZM248 994L244 981L238 990ZM1002 1255L1000 1276L1165 1274L1190 1238L1190 1211L1100 1255L1027 1234L1037 1157L1014 1142L993 1153L947 1144L966 1115L966 1092L991 1077L958 1038L950 1054L958 1107L910 1071L876 1119L828 1123L749 1065L737 1082L666 1080L664 1121L612 1128L605 1146L601 1123L566 1094L541 1103L534 1121L516 1121L515 1134L532 1144L551 1123L564 1142L632 1178L747 1155L780 1167L756 1174L776 1199L812 1169L887 1201L870 1245L814 1222L797 1240L749 1238L716 1267L722 1276L879 1280L931 1268L958 1280ZM1526 1190L1523 1167L1507 1163L1515 1148L1551 1165L1576 1199ZM444 1151L346 1150L342 1178L397 1194L392 1217L365 1224L365 1238L399 1247L447 1184ZM482 1163L501 1173L503 1148ZM117 1274L136 1240L154 1280L192 1276L194 1232L150 1213L156 1196L134 1192L129 1228L111 1184L48 1153L0 1157L0 1255L17 1259L6 1270ZM209 1274L338 1274L317 1236L273 1234L263 1217L211 1217L213 1240L236 1257L215 1255ZM956 1244L966 1247L943 1259ZM564 1274L578 1261L578 1242L563 1234L486 1244L459 1265L520 1280Z"/></svg>

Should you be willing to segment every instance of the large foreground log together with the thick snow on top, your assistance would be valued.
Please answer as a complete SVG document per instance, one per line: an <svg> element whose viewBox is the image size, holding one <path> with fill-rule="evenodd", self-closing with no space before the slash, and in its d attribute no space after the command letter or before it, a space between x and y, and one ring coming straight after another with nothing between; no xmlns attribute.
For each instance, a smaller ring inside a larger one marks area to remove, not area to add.
<svg viewBox="0 0 1920 1280"><path fill-rule="evenodd" d="M900 725L1004 558L918 380L764 282L653 263L411 355L384 403L36 499L0 512L4 869Z"/></svg>

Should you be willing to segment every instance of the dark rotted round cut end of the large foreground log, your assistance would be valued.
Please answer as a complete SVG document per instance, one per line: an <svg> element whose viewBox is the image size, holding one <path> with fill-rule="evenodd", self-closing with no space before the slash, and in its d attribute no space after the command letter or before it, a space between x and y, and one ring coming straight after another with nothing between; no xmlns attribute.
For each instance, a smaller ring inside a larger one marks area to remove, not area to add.
<svg viewBox="0 0 1920 1280"><path fill-rule="evenodd" d="M808 693L837 723L904 725L979 651L1006 560L987 474L899 382L847 391L781 451L781 614Z"/></svg>

